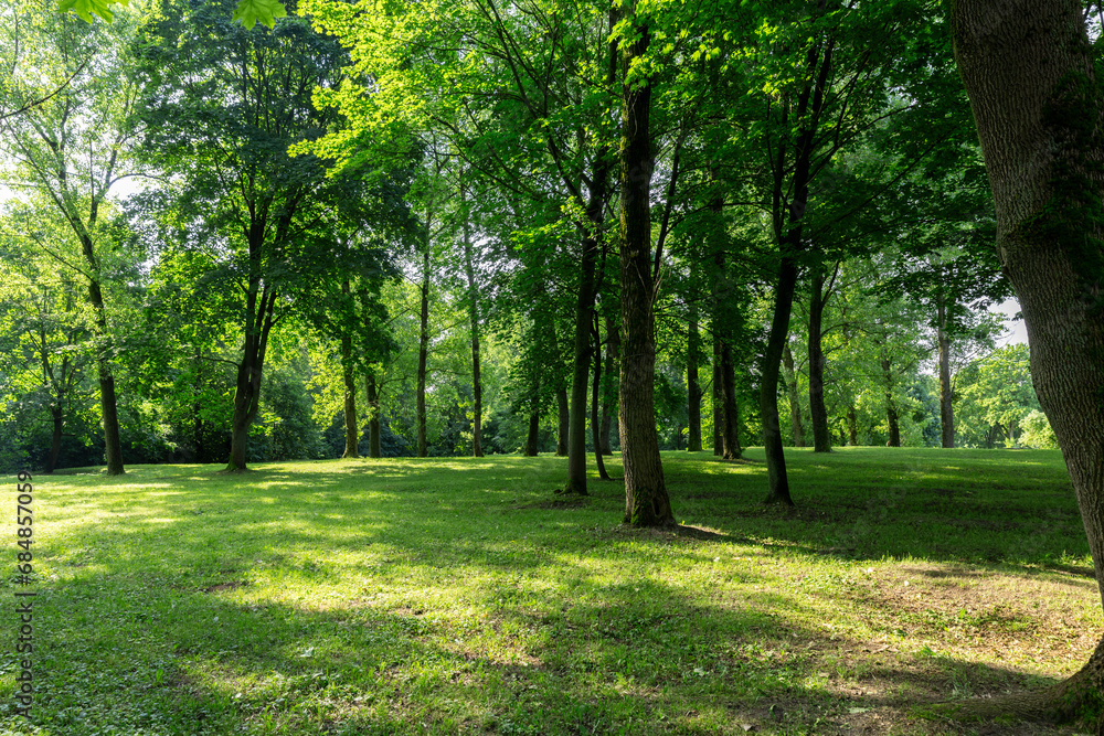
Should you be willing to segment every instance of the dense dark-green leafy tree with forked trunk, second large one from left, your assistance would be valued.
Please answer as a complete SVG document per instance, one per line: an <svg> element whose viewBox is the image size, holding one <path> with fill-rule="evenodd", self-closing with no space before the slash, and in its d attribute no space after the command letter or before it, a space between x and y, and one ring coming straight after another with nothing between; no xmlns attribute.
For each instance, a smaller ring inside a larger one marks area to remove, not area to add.
<svg viewBox="0 0 1104 736"><path fill-rule="evenodd" d="M233 26L224 13L216 1L182 18L170 10L147 26L144 117L147 150L181 172L178 216L224 254L220 275L244 295L227 470L245 470L272 331L340 255L318 247L336 241L314 233L328 227L355 182L327 178L314 156L288 154L331 124L311 94L341 77L340 44L306 19L282 21L269 34Z"/></svg>

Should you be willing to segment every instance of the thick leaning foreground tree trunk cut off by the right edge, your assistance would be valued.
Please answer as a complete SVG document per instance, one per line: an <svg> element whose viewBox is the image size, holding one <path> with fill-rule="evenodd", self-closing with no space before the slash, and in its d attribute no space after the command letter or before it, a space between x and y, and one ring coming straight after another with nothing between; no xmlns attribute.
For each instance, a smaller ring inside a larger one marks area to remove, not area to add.
<svg viewBox="0 0 1104 736"><path fill-rule="evenodd" d="M997 212L997 253L1031 377L1078 498L1104 602L1104 95L1078 0L956 0L954 54ZM1075 717L1104 705L1104 640L1036 698L983 713ZM1096 716L1100 719L1100 716Z"/></svg>

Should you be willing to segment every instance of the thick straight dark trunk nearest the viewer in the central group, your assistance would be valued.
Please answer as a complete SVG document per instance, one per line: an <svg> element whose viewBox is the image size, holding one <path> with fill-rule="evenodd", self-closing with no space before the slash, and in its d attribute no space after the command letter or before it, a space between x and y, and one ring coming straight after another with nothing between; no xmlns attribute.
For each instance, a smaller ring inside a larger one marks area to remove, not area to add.
<svg viewBox="0 0 1104 736"><path fill-rule="evenodd" d="M631 12L635 13L636 3ZM622 68L648 50L650 32L639 18L638 33L623 43ZM623 355L618 425L625 472L625 522L636 526L675 522L656 435L656 344L651 258L651 81L622 85L620 141L620 307Z"/></svg>

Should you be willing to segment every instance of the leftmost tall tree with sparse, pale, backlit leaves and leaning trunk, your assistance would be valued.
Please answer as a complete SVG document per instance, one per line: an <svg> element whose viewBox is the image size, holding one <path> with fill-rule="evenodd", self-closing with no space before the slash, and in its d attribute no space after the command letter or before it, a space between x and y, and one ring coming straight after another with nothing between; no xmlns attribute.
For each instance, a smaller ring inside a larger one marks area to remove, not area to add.
<svg viewBox="0 0 1104 736"><path fill-rule="evenodd" d="M124 467L104 263L113 244L102 213L112 188L132 173L126 167L137 134L131 116L138 85L126 45L134 25L89 26L32 0L20 11L38 20L24 39L31 51L21 60L21 78L9 87L11 106L25 109L2 122L4 152L18 162L6 179L41 192L79 243L79 258L68 263L85 280L95 314L107 474L117 476ZM43 89L59 92L47 96ZM34 99L41 102L26 108Z"/></svg>

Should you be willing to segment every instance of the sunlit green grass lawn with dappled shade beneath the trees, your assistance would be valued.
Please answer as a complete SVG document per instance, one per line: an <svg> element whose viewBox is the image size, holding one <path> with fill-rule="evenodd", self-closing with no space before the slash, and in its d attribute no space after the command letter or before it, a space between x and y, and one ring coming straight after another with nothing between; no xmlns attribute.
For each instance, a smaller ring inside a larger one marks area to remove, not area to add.
<svg viewBox="0 0 1104 736"><path fill-rule="evenodd" d="M676 530L565 460L34 478L35 724L170 734L947 734L936 701L1074 672L1104 620L1057 451L665 454ZM619 460L607 460L614 474ZM13 565L15 484L3 504ZM9 569L11 569L9 567ZM0 631L14 639L11 578ZM0 653L10 713L15 658Z"/></svg>

